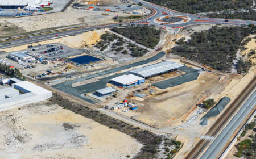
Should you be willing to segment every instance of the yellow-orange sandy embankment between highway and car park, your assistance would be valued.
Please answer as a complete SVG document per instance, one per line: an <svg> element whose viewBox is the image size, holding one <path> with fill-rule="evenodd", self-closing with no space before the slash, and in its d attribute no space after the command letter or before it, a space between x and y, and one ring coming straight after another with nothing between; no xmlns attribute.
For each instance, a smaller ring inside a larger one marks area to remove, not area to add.
<svg viewBox="0 0 256 159"><path fill-rule="evenodd" d="M18 47L1 49L0 51L5 51L5 52L20 51L23 49L27 49L28 45L38 45L38 44L43 45L43 44L52 44L52 43L60 43L60 44L67 45L68 47L71 47L71 48L80 49L80 48L84 48L85 45L88 45L88 47L90 47L91 44L95 44L96 41L100 40L100 36L104 34L105 31L108 31L108 29L88 31L76 36L67 36L59 39L46 40L39 43L20 45Z"/></svg>

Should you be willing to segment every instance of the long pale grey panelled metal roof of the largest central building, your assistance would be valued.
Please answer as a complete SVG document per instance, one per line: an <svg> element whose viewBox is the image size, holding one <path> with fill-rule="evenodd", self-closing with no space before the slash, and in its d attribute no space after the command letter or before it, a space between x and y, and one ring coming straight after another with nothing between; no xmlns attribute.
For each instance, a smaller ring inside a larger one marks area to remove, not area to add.
<svg viewBox="0 0 256 159"><path fill-rule="evenodd" d="M168 70L177 69L182 67L183 65L178 64L172 61L164 61L158 64L149 65L143 68L131 70L130 72L133 74L137 74L141 77L150 77L154 76L155 74L167 72Z"/></svg>

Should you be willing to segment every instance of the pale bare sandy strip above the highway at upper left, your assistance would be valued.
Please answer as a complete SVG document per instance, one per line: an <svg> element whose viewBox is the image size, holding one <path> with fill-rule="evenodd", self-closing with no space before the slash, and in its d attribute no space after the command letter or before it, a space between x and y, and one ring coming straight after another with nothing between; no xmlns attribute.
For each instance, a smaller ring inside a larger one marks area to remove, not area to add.
<svg viewBox="0 0 256 159"><path fill-rule="evenodd" d="M116 15L117 13L115 12L78 10L69 7L65 12L25 16L20 18L0 18L0 23L7 21L8 23L15 24L15 26L29 32L53 27L71 26L75 24L92 26L97 24L114 23L112 18ZM133 14L118 12L118 15L130 16Z"/></svg>

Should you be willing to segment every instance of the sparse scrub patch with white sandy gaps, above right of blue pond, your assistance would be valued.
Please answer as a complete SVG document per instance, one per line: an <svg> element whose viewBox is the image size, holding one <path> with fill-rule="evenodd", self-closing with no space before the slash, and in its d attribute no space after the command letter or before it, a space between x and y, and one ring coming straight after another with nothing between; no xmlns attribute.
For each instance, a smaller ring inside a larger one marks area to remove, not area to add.
<svg viewBox="0 0 256 159"><path fill-rule="evenodd" d="M102 34L101 40L95 45L95 47L99 48L101 51L104 51L109 45L110 48L112 48L111 51L121 52L123 54L128 54L130 52L131 56L133 57L140 57L147 53L146 49L140 48L132 43L127 44L127 41L123 40L122 37L110 32L105 32ZM129 51L127 51L127 49L129 49Z"/></svg>

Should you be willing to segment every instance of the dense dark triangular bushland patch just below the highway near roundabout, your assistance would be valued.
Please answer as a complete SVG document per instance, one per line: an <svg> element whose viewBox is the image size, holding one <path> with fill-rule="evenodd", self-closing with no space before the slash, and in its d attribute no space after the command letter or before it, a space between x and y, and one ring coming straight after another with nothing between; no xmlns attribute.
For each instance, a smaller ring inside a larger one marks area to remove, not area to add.
<svg viewBox="0 0 256 159"><path fill-rule="evenodd" d="M154 49L159 43L161 30L156 30L154 27L147 25L142 27L127 27L127 28L113 28L112 31L117 32L136 43L144 45L145 47Z"/></svg>

